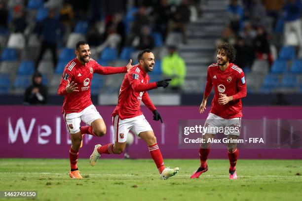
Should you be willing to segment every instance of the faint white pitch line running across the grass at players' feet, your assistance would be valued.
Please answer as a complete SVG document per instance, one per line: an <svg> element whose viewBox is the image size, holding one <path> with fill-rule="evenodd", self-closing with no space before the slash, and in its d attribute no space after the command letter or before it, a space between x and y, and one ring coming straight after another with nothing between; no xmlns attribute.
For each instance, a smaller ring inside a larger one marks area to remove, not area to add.
<svg viewBox="0 0 302 201"><path fill-rule="evenodd" d="M0 172L0 174L52 174L52 175L67 175L68 173L51 173L51 172ZM87 174L94 176L138 176L134 174ZM155 174L149 174L144 176L154 176ZM142 175L143 176L143 175ZM176 174L175 176L189 177L190 174ZM228 175L203 175L201 177L228 177ZM297 175L240 175L238 177L297 177Z"/></svg>

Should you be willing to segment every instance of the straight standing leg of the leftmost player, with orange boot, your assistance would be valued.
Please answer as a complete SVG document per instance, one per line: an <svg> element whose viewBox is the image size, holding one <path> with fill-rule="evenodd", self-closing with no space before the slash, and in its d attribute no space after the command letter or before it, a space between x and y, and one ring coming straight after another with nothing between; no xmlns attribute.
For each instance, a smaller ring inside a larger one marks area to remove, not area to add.
<svg viewBox="0 0 302 201"><path fill-rule="evenodd" d="M69 150L70 167L71 167L69 176L71 178L81 179L82 176L79 174L77 168L78 150L80 148L80 144L82 140L82 134L79 130L79 125L81 120L76 113L66 114L66 115L64 114L64 120L66 122L67 130L71 135L71 141L72 141L72 146Z"/></svg>

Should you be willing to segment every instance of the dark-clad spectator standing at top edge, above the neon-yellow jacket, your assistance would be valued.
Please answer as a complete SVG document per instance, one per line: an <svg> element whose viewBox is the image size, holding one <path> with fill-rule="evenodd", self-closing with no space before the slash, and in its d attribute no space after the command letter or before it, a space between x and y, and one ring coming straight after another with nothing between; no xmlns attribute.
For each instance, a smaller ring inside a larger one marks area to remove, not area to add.
<svg viewBox="0 0 302 201"><path fill-rule="evenodd" d="M176 7L176 11L172 14L172 21L169 24L168 33L181 32L183 43L187 43L187 24L190 21L190 8L188 0L182 0L181 4Z"/></svg>

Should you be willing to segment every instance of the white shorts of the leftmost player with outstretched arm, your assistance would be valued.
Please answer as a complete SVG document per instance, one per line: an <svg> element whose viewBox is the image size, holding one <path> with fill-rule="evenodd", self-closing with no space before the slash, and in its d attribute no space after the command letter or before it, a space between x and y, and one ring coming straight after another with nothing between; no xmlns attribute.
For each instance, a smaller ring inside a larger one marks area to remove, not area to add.
<svg viewBox="0 0 302 201"><path fill-rule="evenodd" d="M80 112L75 112L70 114L65 114L64 112L63 116L65 119L67 131L70 134L75 134L80 132L79 127L80 127L81 120L85 124L90 126L94 120L103 119L93 104L89 105L88 107L86 107Z"/></svg>

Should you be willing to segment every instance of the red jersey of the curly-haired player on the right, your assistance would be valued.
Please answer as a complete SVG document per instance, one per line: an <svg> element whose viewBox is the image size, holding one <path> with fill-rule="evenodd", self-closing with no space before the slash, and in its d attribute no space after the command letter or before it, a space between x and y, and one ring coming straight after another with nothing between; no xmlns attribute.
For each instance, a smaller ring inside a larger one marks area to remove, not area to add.
<svg viewBox="0 0 302 201"><path fill-rule="evenodd" d="M210 65L207 72L204 96L210 95L213 86L215 95L210 112L224 119L242 117L241 99L246 96L243 70L232 63L229 63L225 71L222 71L217 63ZM221 105L218 103L221 94L233 96L233 100Z"/></svg>

